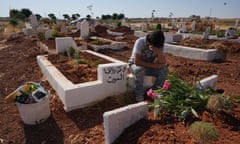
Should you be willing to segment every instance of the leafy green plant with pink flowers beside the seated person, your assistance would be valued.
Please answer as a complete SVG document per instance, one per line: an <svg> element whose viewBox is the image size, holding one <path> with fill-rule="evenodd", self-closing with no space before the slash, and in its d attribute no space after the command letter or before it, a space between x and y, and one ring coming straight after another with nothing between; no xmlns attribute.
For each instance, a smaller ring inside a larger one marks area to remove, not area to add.
<svg viewBox="0 0 240 144"><path fill-rule="evenodd" d="M168 75L162 88L149 89L147 95L154 99L151 106L157 109L157 116L168 113L185 120L190 115L198 117L197 112L205 108L213 93L211 88L200 90L176 75Z"/></svg>

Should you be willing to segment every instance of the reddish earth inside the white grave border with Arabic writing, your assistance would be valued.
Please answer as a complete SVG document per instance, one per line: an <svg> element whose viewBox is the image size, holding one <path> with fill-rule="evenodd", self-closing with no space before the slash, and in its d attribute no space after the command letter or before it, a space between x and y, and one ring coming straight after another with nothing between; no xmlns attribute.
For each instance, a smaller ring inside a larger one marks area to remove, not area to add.
<svg viewBox="0 0 240 144"><path fill-rule="evenodd" d="M67 54L51 54L48 60L66 76L72 83L84 83L97 80L97 67L99 64L110 63L109 61L91 55L87 52L80 52L79 58L68 57Z"/></svg>

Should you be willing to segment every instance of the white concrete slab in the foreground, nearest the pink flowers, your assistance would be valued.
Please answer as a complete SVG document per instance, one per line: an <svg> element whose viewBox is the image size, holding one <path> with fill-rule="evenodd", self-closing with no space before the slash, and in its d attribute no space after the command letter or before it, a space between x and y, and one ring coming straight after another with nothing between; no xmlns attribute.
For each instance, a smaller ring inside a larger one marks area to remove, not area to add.
<svg viewBox="0 0 240 144"><path fill-rule="evenodd" d="M105 144L113 143L125 128L148 116L147 102L128 105L103 114Z"/></svg>

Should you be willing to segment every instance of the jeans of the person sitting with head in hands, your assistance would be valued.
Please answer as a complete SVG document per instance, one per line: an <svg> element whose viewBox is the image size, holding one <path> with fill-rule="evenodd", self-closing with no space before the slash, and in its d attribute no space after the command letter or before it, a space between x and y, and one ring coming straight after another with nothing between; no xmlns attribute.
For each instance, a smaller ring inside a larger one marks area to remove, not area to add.
<svg viewBox="0 0 240 144"><path fill-rule="evenodd" d="M156 77L156 81L154 85L151 87L152 89L156 90L157 88L163 86L165 78L168 73L168 67L164 66L161 69L152 69L132 64L130 66L130 71L132 72L134 78L134 90L136 94L136 101L143 101L145 93L145 89L143 87L144 76Z"/></svg>

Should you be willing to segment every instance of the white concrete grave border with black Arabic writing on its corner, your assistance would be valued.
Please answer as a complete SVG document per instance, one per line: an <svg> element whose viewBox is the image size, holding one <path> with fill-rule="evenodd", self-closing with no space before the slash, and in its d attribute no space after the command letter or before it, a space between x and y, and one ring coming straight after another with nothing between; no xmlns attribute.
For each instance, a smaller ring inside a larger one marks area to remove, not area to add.
<svg viewBox="0 0 240 144"><path fill-rule="evenodd" d="M85 50L113 63L98 66L98 80L80 84L69 81L45 56L37 56L38 64L64 104L65 111L82 108L108 96L124 93L127 83L127 64L110 57Z"/></svg>

